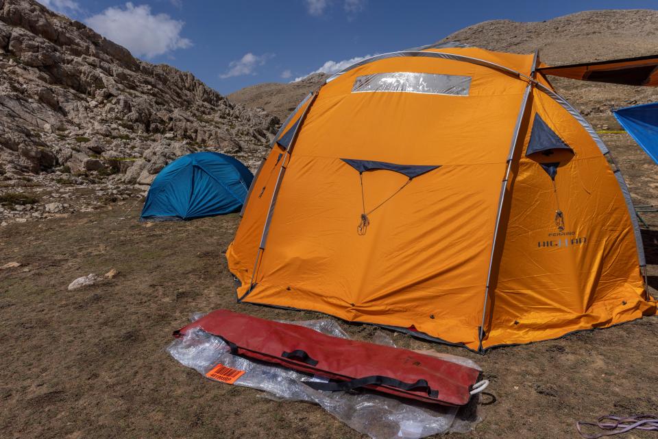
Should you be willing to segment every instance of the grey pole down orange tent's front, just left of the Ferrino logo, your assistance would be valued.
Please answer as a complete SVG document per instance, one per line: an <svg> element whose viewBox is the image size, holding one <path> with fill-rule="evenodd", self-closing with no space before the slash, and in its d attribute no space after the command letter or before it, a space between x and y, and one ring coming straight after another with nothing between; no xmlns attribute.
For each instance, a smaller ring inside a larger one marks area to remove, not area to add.
<svg viewBox="0 0 658 439"><path fill-rule="evenodd" d="M519 143L521 126L523 119L528 110L528 97L533 89L535 84L535 69L537 68L537 51L535 51L535 57L533 58L533 67L531 69L531 78L532 81L528 82L526 90L524 91L523 98L521 99L521 107L517 115L516 123L514 126L514 134L512 135L512 141L509 146L509 154L507 156L507 169L505 169L505 175L500 184L500 195L498 197L498 213L496 213L496 225L493 226L493 241L491 242L491 254L489 255L489 269L487 271L487 285L485 287L485 300L483 301L482 306L482 322L480 323L480 331L478 334L478 351L482 352L482 341L485 337L485 320L487 317L487 301L489 299L489 283L491 282L491 272L493 272L493 257L496 253L496 244L498 244L498 231L500 229L500 217L502 216L502 206L505 200L505 192L507 189L507 181L509 180L509 174L512 169L512 161L514 157L514 152L516 150L516 145Z"/></svg>

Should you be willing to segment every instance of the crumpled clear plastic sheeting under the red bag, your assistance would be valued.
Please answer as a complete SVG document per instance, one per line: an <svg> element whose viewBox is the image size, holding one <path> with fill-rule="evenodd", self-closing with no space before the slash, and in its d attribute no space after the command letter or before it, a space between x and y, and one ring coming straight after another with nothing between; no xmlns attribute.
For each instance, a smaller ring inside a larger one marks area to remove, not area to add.
<svg viewBox="0 0 658 439"><path fill-rule="evenodd" d="M196 313L193 320L203 315ZM300 324L334 337L350 338L334 320L321 319ZM391 337L381 331L376 334L378 344L394 346ZM230 353L230 348L219 337L202 330L189 331L174 340L167 351L181 364L206 375L221 363L230 368L245 370L235 385L264 390L267 397L277 401L307 401L315 403L356 431L374 439L417 439L448 431L465 433L479 422L476 414L478 397L466 407L446 407L435 404L402 401L370 392L321 392L304 381L326 381L301 372L251 361ZM442 354L434 353L443 358ZM470 360L449 355L448 361L474 365ZM475 365L475 367L477 367Z"/></svg>

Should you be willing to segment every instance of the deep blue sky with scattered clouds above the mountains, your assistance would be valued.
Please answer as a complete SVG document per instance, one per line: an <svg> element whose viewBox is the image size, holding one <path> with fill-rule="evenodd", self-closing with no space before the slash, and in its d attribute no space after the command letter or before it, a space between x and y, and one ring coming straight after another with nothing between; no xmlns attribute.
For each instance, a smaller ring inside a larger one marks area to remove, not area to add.
<svg viewBox="0 0 658 439"><path fill-rule="evenodd" d="M656 0L41 1L138 58L191 71L223 94L434 43L480 21L542 21L590 9L658 7Z"/></svg>

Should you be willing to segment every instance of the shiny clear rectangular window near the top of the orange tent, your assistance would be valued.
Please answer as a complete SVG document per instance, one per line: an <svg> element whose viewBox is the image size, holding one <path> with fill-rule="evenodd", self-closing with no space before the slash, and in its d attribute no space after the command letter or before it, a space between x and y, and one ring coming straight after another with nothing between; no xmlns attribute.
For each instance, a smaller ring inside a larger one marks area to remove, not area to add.
<svg viewBox="0 0 658 439"><path fill-rule="evenodd" d="M354 81L352 93L398 92L467 96L470 87L470 76L391 72L359 76Z"/></svg>

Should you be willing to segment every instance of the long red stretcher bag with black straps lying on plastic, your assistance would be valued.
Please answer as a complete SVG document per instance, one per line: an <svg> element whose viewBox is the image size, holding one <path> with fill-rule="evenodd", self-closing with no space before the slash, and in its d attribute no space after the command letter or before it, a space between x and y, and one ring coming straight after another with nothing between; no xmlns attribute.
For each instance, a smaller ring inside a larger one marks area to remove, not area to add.
<svg viewBox="0 0 658 439"><path fill-rule="evenodd" d="M367 388L426 403L465 405L482 390L480 370L402 348L332 337L296 324L219 309L175 331L216 335L234 355L329 379L304 381L331 392Z"/></svg>

